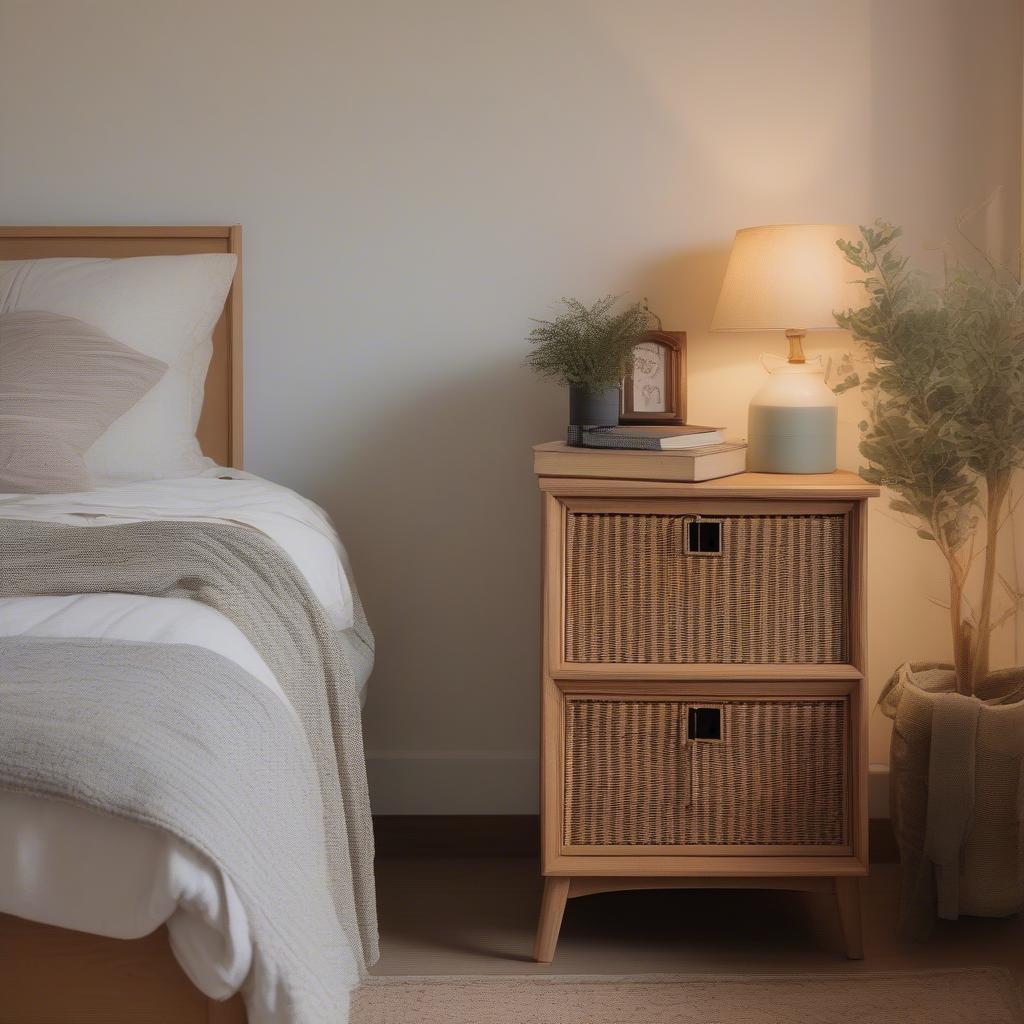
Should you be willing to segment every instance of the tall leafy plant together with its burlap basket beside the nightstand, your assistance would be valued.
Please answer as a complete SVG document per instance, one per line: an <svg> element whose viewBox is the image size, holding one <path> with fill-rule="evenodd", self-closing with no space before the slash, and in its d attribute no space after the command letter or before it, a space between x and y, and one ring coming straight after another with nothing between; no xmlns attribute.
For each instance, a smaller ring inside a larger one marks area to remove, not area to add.
<svg viewBox="0 0 1024 1024"><path fill-rule="evenodd" d="M958 266L931 287L882 221L841 241L867 302L837 314L866 356L861 474L948 567L952 663L907 663L880 705L894 720L891 813L913 930L1024 907L1024 668L992 672L993 632L1022 595L998 568L1024 467L1024 290Z"/></svg>

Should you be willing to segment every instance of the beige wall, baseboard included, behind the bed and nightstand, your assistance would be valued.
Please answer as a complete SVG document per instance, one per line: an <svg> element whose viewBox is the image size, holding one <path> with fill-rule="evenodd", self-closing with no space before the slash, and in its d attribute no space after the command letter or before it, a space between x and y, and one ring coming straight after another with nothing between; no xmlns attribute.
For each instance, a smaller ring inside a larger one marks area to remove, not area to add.
<svg viewBox="0 0 1024 1024"><path fill-rule="evenodd" d="M742 431L780 341L708 331L733 230L884 215L920 253L1004 185L1012 247L1020 28L1016 0L0 0L0 221L245 225L249 467L351 550L375 804L523 811L528 450L565 406L528 317L649 296L692 419ZM935 553L872 529L877 688L948 641Z"/></svg>

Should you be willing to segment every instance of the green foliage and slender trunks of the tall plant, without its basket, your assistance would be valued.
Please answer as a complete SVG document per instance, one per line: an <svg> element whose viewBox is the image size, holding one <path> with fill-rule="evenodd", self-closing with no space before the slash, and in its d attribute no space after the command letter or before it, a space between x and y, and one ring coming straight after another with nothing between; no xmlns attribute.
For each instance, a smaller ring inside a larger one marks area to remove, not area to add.
<svg viewBox="0 0 1024 1024"><path fill-rule="evenodd" d="M987 671L998 517L1011 475L1024 466L1024 291L997 268L958 266L929 286L896 250L900 230L877 221L838 245L863 272L867 302L837 313L864 350L837 391L861 384L861 475L889 487L892 508L916 520L950 567L957 668ZM979 526L986 569L976 623L961 601ZM974 645L962 653L965 638Z"/></svg>

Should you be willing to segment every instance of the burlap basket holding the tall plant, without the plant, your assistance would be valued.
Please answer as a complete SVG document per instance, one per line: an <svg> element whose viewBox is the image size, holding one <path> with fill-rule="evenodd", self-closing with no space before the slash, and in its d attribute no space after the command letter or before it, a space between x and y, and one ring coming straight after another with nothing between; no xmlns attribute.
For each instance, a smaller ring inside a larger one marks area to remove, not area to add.
<svg viewBox="0 0 1024 1024"><path fill-rule="evenodd" d="M951 666L913 663L879 701L895 722L890 812L913 934L936 915L1024 907L1024 669L992 673L982 693L956 693Z"/></svg>

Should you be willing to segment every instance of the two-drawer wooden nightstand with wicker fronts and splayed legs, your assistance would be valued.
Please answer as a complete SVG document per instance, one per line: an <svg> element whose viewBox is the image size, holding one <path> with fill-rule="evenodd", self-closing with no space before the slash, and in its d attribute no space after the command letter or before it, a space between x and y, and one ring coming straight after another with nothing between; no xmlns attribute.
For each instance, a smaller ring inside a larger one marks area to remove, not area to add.
<svg viewBox="0 0 1024 1024"><path fill-rule="evenodd" d="M671 454L535 449L544 495L535 958L566 899L835 893L862 955L866 502L852 473L672 479Z"/></svg>

